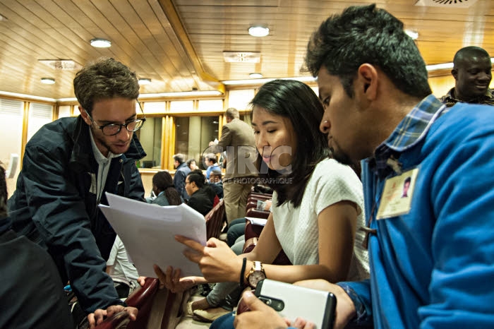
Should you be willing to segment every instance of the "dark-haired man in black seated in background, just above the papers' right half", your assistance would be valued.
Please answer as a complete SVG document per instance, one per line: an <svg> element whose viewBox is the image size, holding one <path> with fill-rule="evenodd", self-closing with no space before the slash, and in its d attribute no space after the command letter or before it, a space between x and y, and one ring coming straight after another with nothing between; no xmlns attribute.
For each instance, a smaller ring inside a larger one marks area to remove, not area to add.
<svg viewBox="0 0 494 329"><path fill-rule="evenodd" d="M200 170L191 172L186 177L185 189L190 196L187 205L206 215L212 209L216 193L210 186L205 186L205 177Z"/></svg>

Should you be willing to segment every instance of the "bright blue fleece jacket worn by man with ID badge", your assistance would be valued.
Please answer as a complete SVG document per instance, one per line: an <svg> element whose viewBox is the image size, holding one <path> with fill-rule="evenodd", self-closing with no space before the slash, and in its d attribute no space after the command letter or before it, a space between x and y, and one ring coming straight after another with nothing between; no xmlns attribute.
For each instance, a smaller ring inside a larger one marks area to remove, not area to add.
<svg viewBox="0 0 494 329"><path fill-rule="evenodd" d="M438 115L442 104L425 101L430 124L402 129L414 120L406 116L384 143L414 140L385 147L402 172L418 168L411 210L375 219L397 172L363 161L366 218L376 229L370 280L339 285L359 321L375 328L494 328L494 107L458 103Z"/></svg>

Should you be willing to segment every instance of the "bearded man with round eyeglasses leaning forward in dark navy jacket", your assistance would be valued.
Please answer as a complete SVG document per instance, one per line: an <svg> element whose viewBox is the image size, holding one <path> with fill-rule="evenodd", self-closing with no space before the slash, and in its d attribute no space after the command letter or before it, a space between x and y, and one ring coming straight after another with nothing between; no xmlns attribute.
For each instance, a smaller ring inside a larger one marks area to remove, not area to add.
<svg viewBox="0 0 494 329"><path fill-rule="evenodd" d="M105 192L144 201L135 162L145 152L133 132L145 118L137 116L135 73L114 59L79 71L74 93L80 116L46 124L30 139L8 208L13 229L47 249L60 289L70 282L93 326L125 306L104 272L116 234L98 205L107 204Z"/></svg>

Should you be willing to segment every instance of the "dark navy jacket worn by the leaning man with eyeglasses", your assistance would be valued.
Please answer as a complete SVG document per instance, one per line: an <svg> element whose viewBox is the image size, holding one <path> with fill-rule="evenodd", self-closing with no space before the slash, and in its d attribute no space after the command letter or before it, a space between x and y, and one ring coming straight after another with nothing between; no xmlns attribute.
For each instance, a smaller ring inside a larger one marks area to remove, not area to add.
<svg viewBox="0 0 494 329"><path fill-rule="evenodd" d="M134 135L128 152L112 159L104 191L144 201L135 166L143 157ZM90 191L97 170L88 125L80 116L56 120L26 145L16 191L8 200L13 229L48 250L87 312L122 304L104 273L116 234ZM100 203L108 204L104 193Z"/></svg>

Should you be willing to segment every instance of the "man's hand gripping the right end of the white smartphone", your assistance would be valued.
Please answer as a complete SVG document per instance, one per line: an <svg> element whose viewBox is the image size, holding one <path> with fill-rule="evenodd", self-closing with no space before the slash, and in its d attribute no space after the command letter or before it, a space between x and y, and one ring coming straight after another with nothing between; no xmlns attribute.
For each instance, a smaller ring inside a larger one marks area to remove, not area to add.
<svg viewBox="0 0 494 329"><path fill-rule="evenodd" d="M349 323L349 321L355 318L356 311L354 302L351 301L349 295L344 291L342 287L339 287L339 285L335 285L322 279L303 280L295 282L294 285L323 290L335 294L337 303L335 325L333 326L334 329L344 328L345 325Z"/></svg>

